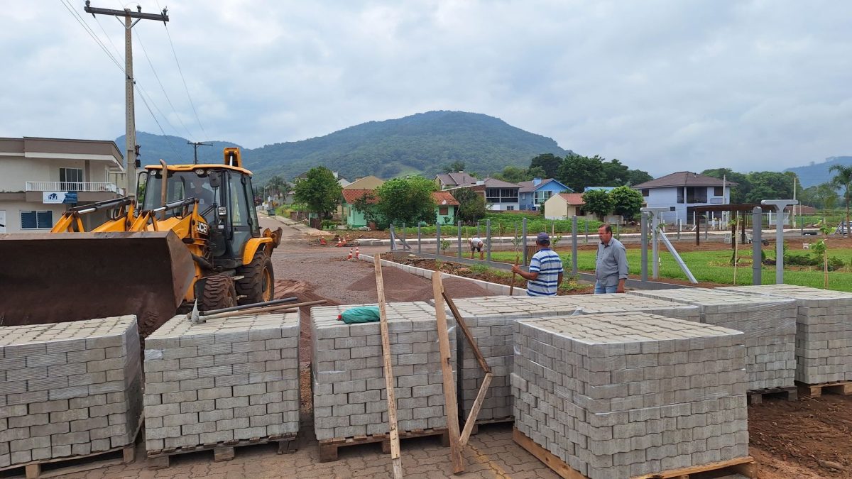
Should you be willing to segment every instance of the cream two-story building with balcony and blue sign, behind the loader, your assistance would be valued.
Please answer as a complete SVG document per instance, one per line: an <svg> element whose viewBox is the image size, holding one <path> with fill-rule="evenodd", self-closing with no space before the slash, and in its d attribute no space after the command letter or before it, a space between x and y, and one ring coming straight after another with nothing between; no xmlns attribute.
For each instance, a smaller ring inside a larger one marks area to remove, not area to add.
<svg viewBox="0 0 852 479"><path fill-rule="evenodd" d="M0 138L0 233L44 232L72 206L124 195L114 141ZM83 216L88 230L107 212Z"/></svg>

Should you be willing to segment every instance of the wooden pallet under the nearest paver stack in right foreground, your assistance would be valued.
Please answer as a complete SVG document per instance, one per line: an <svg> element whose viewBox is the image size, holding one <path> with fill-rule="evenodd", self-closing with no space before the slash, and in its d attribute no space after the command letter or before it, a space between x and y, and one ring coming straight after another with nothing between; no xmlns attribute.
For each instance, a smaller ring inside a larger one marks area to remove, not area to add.
<svg viewBox="0 0 852 479"><path fill-rule="evenodd" d="M560 477L564 477L565 479L588 479L586 476L580 474L576 470L573 470L571 466L565 464L565 461L557 458L556 455L536 444L520 430L517 430L517 428L512 428L512 439L514 439L519 446L526 449L528 453L533 454L533 456L535 456L538 460L550 467L550 469L556 472L556 474ZM712 472L714 476L717 476L718 474L741 474L750 478L757 477L757 467L755 467L754 458L746 456L745 458L731 459L706 465L694 465L690 467L683 467L681 469L664 470L662 472L655 472L644 476L635 476L632 479L688 479L690 476L704 472Z"/></svg>

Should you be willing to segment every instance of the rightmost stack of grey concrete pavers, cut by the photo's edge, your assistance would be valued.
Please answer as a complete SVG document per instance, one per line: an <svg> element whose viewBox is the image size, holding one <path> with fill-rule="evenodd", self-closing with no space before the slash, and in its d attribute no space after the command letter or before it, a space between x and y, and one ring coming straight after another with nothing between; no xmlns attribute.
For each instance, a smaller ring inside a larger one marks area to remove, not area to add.
<svg viewBox="0 0 852 479"><path fill-rule="evenodd" d="M805 384L852 380L852 294L793 285L719 289L795 299L796 380Z"/></svg>

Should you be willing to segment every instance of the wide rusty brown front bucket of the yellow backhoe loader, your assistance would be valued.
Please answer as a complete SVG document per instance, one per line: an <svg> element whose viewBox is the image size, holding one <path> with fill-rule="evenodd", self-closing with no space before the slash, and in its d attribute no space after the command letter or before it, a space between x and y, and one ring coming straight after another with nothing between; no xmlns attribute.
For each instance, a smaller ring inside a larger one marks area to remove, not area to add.
<svg viewBox="0 0 852 479"><path fill-rule="evenodd" d="M0 234L0 326L136 315L151 332L194 275L171 231Z"/></svg>

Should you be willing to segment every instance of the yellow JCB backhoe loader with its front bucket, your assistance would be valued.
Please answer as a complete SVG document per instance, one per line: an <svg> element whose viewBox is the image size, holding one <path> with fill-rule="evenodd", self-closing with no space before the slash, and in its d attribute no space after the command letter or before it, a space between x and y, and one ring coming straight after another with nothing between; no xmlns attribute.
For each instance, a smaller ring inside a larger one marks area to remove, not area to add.
<svg viewBox="0 0 852 479"><path fill-rule="evenodd" d="M49 234L0 234L0 326L135 314L151 331L183 303L222 309L273 299L271 255L239 148L222 164L160 164L136 199L66 211ZM84 231L82 216L108 211Z"/></svg>

